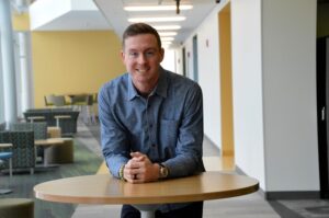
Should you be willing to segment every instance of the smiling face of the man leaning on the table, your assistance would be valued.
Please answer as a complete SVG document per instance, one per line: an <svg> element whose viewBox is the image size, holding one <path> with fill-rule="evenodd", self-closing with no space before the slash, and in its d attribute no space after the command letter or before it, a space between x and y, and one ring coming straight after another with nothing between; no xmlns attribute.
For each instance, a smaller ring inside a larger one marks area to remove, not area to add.
<svg viewBox="0 0 329 218"><path fill-rule="evenodd" d="M163 49L159 48L156 36L140 34L127 37L122 58L135 85L154 85L157 82Z"/></svg>

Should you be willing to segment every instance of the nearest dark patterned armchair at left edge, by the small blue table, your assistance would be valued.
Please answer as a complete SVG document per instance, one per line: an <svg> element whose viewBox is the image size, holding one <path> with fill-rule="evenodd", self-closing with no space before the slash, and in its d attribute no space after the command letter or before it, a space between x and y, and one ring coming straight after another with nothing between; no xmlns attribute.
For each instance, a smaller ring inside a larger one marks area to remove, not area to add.
<svg viewBox="0 0 329 218"><path fill-rule="evenodd" d="M0 148L0 152L9 152L12 154L13 169L30 169L31 174L34 173L35 167L35 149L33 131L0 131L0 144L12 144L10 148ZM1 165L8 169L8 163Z"/></svg>

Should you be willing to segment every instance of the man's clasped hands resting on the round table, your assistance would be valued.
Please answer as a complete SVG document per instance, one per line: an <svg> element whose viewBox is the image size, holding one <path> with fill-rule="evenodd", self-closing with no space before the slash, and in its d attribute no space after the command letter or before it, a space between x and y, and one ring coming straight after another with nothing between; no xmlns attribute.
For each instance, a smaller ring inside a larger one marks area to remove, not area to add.
<svg viewBox="0 0 329 218"><path fill-rule="evenodd" d="M145 183L159 179L159 164L152 163L140 152L132 152L132 159L125 164L124 179L129 183Z"/></svg>

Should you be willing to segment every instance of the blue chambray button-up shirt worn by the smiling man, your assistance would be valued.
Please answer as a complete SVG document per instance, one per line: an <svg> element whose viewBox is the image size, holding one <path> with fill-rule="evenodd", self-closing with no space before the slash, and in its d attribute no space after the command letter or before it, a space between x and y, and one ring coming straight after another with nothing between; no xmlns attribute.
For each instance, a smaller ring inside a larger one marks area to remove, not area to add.
<svg viewBox="0 0 329 218"><path fill-rule="evenodd" d="M102 152L115 177L131 151L166 165L169 177L205 171L202 90L188 78L160 68L156 89L143 97L125 73L101 88L99 118Z"/></svg>

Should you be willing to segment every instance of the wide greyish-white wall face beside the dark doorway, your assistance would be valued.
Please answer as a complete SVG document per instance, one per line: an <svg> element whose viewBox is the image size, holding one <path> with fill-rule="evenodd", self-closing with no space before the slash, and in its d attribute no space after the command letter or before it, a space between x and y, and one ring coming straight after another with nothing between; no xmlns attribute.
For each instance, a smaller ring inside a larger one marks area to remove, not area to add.
<svg viewBox="0 0 329 218"><path fill-rule="evenodd" d="M266 190L318 191L317 2L262 2Z"/></svg>

